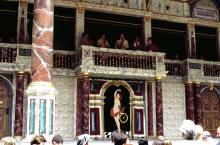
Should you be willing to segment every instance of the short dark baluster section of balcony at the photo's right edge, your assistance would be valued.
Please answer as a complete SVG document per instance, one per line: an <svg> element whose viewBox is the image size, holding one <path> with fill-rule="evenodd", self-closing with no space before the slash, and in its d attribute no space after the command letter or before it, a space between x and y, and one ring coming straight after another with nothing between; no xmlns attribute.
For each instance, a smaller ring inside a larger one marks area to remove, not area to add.
<svg viewBox="0 0 220 145"><path fill-rule="evenodd" d="M204 64L204 76L220 77L220 64Z"/></svg>

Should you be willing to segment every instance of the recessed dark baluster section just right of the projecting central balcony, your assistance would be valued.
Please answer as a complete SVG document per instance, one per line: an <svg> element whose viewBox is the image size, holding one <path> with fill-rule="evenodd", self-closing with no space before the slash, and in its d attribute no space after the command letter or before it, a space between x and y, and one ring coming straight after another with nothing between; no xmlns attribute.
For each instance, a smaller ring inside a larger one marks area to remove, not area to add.
<svg viewBox="0 0 220 145"><path fill-rule="evenodd" d="M169 76L184 76L186 75L185 67L182 61L178 60L166 60L165 62L166 71Z"/></svg>

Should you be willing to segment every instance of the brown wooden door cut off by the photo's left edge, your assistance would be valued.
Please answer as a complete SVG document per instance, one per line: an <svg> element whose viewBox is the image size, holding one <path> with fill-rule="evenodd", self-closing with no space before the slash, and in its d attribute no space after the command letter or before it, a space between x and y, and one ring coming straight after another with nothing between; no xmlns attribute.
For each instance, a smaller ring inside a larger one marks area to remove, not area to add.
<svg viewBox="0 0 220 145"><path fill-rule="evenodd" d="M9 109L9 97L7 90L0 83L0 138L8 136L8 110Z"/></svg>

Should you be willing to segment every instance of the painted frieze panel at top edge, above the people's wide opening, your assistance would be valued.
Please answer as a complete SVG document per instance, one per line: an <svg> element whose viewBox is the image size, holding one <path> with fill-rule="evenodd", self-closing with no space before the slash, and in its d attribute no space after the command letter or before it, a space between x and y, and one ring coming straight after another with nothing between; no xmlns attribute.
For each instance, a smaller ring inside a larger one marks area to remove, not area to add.
<svg viewBox="0 0 220 145"><path fill-rule="evenodd" d="M78 2L87 2L107 6L123 7L129 9L144 10L146 6L145 0L75 0Z"/></svg>

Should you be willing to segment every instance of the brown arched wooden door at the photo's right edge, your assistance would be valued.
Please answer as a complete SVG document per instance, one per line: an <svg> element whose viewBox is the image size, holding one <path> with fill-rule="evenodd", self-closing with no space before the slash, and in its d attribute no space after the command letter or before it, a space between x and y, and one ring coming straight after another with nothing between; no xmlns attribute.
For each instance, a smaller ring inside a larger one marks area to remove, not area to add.
<svg viewBox="0 0 220 145"><path fill-rule="evenodd" d="M206 91L203 94L203 126L216 137L216 129L220 126L220 99L214 91Z"/></svg>

